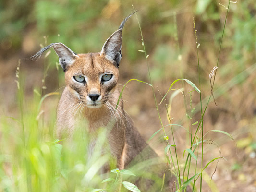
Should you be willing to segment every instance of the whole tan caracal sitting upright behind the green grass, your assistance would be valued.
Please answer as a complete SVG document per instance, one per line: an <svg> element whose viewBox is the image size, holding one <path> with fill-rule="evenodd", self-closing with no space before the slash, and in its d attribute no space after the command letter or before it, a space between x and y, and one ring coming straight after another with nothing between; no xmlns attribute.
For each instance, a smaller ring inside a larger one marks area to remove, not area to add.
<svg viewBox="0 0 256 192"><path fill-rule="evenodd" d="M106 40L101 52L76 54L63 43L51 43L32 58L41 57L46 50L53 48L65 72L66 87L57 109L58 138L68 138L72 142L76 130L86 130L93 138L89 143L89 152L92 152L96 145L94 138L97 137L98 128L104 127L117 168L131 168L140 176L147 172L159 176L158 181L144 177L134 178L142 191L148 191L154 184L161 185L162 173L167 168L158 161L158 155L146 144L134 127L133 121L125 114L122 99L116 108L120 96L117 82L118 67L122 58L122 28L131 15L126 17L119 29ZM110 76L110 79L105 79ZM101 152L108 153L109 148L106 146ZM144 166L141 164L138 167L137 163L144 161L152 161L153 164L145 163ZM107 166L104 166L102 171L108 171ZM122 177L120 179L122 180ZM173 184L172 179L167 180L166 189L170 189L168 186ZM120 187L121 185L119 189Z"/></svg>

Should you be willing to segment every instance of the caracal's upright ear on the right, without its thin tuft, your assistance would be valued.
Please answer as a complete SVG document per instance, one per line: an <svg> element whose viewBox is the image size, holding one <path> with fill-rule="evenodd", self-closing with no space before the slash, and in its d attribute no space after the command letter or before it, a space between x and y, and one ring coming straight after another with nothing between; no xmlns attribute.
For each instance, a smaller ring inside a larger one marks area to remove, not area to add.
<svg viewBox="0 0 256 192"><path fill-rule="evenodd" d="M105 56L116 67L119 67L119 62L122 58L122 29L115 31L104 43L100 55Z"/></svg>

